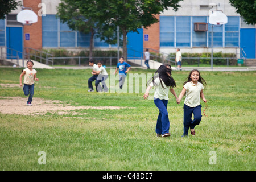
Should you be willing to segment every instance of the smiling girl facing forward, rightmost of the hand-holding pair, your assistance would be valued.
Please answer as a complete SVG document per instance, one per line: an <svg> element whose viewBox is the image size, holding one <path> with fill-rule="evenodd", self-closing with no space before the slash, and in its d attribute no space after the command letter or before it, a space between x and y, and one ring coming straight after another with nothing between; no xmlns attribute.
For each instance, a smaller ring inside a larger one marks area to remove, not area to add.
<svg viewBox="0 0 256 182"><path fill-rule="evenodd" d="M187 78L187 81L183 84L183 90L179 95L179 101L186 93L186 98L184 101L184 118L183 118L183 137L188 135L188 129L190 127L190 132L192 135L196 134L195 126L200 124L202 114L201 114L201 104L200 97L204 102L207 100L204 98L203 89L206 86L206 81L201 77L200 72L197 69L193 69ZM192 114L194 119L192 120Z"/></svg>

